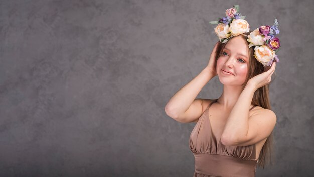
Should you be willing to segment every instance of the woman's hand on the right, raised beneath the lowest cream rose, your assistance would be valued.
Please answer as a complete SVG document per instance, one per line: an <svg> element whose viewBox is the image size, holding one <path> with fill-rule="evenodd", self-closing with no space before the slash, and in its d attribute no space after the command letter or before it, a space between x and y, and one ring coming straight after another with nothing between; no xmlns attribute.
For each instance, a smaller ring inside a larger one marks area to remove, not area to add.
<svg viewBox="0 0 314 177"><path fill-rule="evenodd" d="M257 90L258 88L269 84L271 81L271 76L275 71L275 68L276 68L276 62L273 62L269 70L251 78L247 82L247 85L253 86L255 90Z"/></svg>

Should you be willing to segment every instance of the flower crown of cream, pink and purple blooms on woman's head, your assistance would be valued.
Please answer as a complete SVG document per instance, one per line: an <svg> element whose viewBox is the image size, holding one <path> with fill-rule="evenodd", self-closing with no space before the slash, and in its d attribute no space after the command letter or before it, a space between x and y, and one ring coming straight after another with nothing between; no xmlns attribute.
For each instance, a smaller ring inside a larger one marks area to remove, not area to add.
<svg viewBox="0 0 314 177"><path fill-rule="evenodd" d="M279 62L278 56L275 54L280 48L279 39L275 37L280 32L277 19L275 19L274 25L260 26L247 36L243 33L250 31L250 25L244 20L246 16L242 16L239 10L239 5L234 5L226 10L226 17L209 22L210 24L218 24L215 27L215 33L219 41L226 43L232 36L243 35L247 37L247 41L250 43L249 48L255 46L254 56L264 67L271 66L274 60Z"/></svg>

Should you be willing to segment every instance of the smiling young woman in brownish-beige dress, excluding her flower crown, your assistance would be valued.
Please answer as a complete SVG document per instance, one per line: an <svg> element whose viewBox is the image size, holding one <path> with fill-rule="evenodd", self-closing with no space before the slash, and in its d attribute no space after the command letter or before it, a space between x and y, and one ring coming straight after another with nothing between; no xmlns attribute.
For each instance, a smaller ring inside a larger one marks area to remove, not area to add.
<svg viewBox="0 0 314 177"><path fill-rule="evenodd" d="M256 165L264 168L270 162L276 115L270 108L269 83L276 62L263 67L245 35L218 41L208 65L165 107L178 122L196 122L189 144L194 176L255 176ZM215 76L223 84L221 96L196 99Z"/></svg>

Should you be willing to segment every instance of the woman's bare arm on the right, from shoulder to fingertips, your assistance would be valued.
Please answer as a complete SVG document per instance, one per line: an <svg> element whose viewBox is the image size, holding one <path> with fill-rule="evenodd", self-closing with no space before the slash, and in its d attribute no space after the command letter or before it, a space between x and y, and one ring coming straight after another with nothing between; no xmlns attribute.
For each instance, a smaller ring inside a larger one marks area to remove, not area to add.
<svg viewBox="0 0 314 177"><path fill-rule="evenodd" d="M275 66L274 63L268 71L254 76L248 81L225 124L221 135L221 142L224 145L255 144L268 137L274 129L277 117L273 111L261 109L256 114L249 116L249 109L255 91L270 83Z"/></svg>

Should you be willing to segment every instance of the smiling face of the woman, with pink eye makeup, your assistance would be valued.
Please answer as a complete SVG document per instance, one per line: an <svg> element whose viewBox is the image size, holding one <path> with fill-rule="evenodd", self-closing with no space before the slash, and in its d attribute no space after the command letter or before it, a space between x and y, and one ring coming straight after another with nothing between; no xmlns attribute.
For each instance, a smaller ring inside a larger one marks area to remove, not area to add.
<svg viewBox="0 0 314 177"><path fill-rule="evenodd" d="M217 60L216 71L224 85L242 85L248 73L249 49L243 37L232 37ZM232 74L224 72L228 71Z"/></svg>

